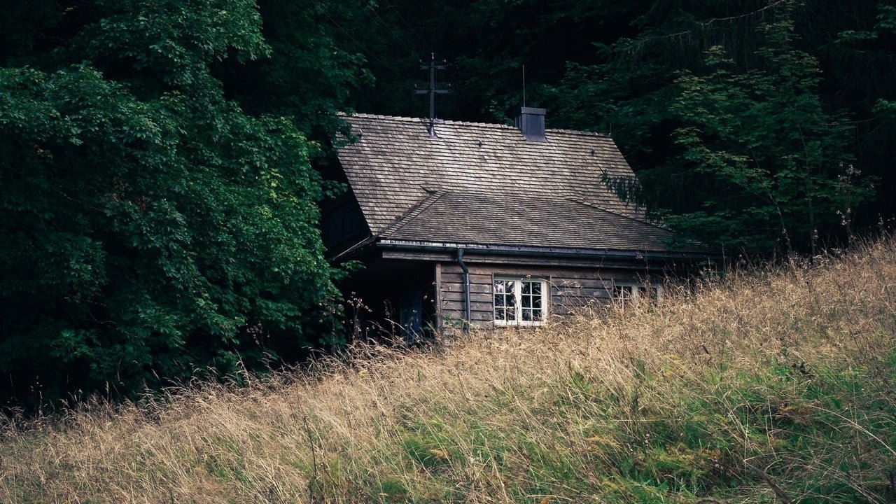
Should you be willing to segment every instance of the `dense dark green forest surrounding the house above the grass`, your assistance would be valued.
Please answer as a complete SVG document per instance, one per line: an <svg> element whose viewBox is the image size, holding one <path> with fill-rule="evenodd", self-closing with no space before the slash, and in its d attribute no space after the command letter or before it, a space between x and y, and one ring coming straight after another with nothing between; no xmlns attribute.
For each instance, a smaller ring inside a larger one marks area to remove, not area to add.
<svg viewBox="0 0 896 504"><path fill-rule="evenodd" d="M607 179L752 257L894 213L882 0L38 0L0 18L4 407L129 395L338 345L318 205L337 113L610 134ZM325 170L324 170L325 171Z"/></svg>

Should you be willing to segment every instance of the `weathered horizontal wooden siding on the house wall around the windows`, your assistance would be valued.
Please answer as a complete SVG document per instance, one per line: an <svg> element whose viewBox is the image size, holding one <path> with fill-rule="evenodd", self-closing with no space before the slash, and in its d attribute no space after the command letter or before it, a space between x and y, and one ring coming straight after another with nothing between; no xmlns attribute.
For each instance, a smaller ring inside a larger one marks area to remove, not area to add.
<svg viewBox="0 0 896 504"><path fill-rule="evenodd" d="M607 268L563 268L546 266L514 266L502 264L467 265L470 269L470 318L475 326L494 322L492 282L495 275L531 276L547 280L550 286L550 311L553 315L569 315L576 308L593 302L609 302L613 282L638 282L631 270ZM463 271L457 263L443 263L438 268L436 298L441 326L457 325L463 319Z"/></svg>

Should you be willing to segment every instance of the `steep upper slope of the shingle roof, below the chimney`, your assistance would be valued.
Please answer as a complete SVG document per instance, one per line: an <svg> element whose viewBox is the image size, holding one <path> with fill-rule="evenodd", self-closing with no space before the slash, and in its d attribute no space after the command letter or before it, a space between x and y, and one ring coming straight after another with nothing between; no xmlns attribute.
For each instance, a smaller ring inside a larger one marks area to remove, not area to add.
<svg viewBox="0 0 896 504"><path fill-rule="evenodd" d="M607 136L548 129L547 142L530 142L513 126L445 121L431 138L422 119L346 119L358 141L342 147L339 159L375 235L434 191L576 199L643 220L642 209L622 201L604 182L634 177Z"/></svg>

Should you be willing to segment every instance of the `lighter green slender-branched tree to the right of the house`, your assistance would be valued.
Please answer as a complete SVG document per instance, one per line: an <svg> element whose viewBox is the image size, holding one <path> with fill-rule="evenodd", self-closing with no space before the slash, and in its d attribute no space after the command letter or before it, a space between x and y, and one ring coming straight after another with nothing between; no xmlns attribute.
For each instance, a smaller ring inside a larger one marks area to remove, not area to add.
<svg viewBox="0 0 896 504"><path fill-rule="evenodd" d="M794 47L788 11L760 30L758 68L737 72L717 46L708 74L676 81L674 138L704 192L700 210L668 222L737 249L814 251L819 229L840 223L849 233L870 188L851 164L847 122L823 109L817 60Z"/></svg>

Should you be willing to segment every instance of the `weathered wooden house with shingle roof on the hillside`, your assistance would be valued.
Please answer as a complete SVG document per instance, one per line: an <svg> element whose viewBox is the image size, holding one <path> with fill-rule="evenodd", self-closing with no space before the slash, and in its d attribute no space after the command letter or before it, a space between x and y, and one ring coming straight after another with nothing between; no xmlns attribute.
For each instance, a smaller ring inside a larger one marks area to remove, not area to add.
<svg viewBox="0 0 896 504"><path fill-rule="evenodd" d="M608 188L633 179L607 135L357 115L339 151L349 191L324 208L336 261L357 260L346 291L358 322L426 327L537 326L590 302L657 298L673 265L706 260ZM351 310L350 310L351 311Z"/></svg>

